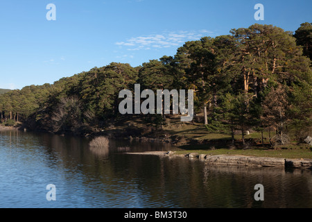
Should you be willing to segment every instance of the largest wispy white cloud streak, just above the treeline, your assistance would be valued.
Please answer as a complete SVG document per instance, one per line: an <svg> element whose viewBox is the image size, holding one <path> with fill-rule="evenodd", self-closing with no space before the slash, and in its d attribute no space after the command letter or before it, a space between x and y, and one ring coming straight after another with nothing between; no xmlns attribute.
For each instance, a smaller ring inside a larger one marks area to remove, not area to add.
<svg viewBox="0 0 312 222"><path fill-rule="evenodd" d="M155 35L132 37L123 42L116 42L116 45L127 46L129 51L162 49L177 47L184 42L200 40L200 37L213 35L213 32L202 29L200 31L175 31L164 32Z"/></svg>

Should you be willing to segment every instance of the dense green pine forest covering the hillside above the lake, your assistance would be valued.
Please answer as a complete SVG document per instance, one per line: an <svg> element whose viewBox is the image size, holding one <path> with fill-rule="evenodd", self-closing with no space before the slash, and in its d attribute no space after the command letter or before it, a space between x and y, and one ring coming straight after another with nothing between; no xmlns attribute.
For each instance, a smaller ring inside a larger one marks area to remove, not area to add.
<svg viewBox="0 0 312 222"><path fill-rule="evenodd" d="M112 62L53 84L0 95L1 123L58 134L86 135L133 117L161 130L164 114L119 113L119 92L193 89L194 113L208 132L274 131L277 141L312 136L312 24L295 32L253 24L229 35L185 42L174 56L139 67Z"/></svg>

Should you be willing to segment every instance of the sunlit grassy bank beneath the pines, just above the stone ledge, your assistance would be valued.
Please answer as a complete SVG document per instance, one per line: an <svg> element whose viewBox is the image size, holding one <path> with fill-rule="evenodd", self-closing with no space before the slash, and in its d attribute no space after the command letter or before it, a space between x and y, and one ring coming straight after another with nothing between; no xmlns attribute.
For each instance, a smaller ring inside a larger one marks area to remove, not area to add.
<svg viewBox="0 0 312 222"><path fill-rule="evenodd" d="M292 142L291 144L271 148L269 133L266 131L263 132L264 146L261 144L261 133L252 132L249 135L245 135L248 148L241 146L241 134L236 134L234 135L236 148L230 149L223 145L224 142L231 143L232 137L230 134L211 133L202 123L182 123L180 119L170 118L166 120L163 130L171 137L184 138L184 143L178 144L182 151L177 151L176 154L198 153L205 155L250 155L256 157L312 159L312 147L308 144ZM271 137L275 135L274 132L270 134ZM189 143L190 141L197 144ZM249 141L252 141L252 143L249 144Z"/></svg>

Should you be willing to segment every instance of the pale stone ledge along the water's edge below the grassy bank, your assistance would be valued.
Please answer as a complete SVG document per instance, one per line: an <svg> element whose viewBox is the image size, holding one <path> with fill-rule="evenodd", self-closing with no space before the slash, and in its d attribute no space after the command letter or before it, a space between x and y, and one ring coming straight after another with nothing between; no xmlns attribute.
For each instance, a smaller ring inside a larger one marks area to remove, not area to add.
<svg viewBox="0 0 312 222"><path fill-rule="evenodd" d="M125 153L128 155L156 155L159 157L187 157L198 159L206 164L215 166L241 166L241 167L279 167L295 169L311 169L312 159L288 159L279 157L255 157L248 155L205 155L198 153L175 154L174 151L148 151L141 153Z"/></svg>

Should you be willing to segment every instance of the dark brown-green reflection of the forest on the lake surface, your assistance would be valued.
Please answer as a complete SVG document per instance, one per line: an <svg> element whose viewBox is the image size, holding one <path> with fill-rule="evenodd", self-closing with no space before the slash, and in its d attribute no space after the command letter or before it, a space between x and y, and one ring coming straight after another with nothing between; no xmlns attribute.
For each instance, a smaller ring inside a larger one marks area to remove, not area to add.
<svg viewBox="0 0 312 222"><path fill-rule="evenodd" d="M312 207L311 171L211 167L188 158L110 155L127 147L118 143L107 157L103 149L92 151L85 138L19 133L23 136L1 135L11 136L8 141L19 142L29 150L43 149L49 164L58 165L55 169L60 172L70 172L66 178L81 173L86 189L94 187L103 198L114 194L125 205L137 198L141 207ZM254 200L254 185L258 183L265 189L263 202Z"/></svg>

